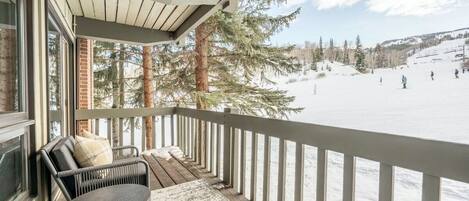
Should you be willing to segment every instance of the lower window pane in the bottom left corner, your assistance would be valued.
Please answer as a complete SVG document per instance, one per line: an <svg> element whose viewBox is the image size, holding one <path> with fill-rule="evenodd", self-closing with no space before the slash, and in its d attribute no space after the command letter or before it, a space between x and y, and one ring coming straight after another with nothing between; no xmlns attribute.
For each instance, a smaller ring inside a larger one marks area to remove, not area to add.
<svg viewBox="0 0 469 201"><path fill-rule="evenodd" d="M22 137L0 142L0 201L9 200L23 190Z"/></svg>

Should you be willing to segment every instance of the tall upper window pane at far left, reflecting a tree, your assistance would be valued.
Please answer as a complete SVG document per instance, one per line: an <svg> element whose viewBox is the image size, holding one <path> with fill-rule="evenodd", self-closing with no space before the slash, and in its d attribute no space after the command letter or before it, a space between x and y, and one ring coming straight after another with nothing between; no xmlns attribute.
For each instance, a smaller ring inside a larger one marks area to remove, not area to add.
<svg viewBox="0 0 469 201"><path fill-rule="evenodd" d="M16 1L0 1L0 114L19 111Z"/></svg>

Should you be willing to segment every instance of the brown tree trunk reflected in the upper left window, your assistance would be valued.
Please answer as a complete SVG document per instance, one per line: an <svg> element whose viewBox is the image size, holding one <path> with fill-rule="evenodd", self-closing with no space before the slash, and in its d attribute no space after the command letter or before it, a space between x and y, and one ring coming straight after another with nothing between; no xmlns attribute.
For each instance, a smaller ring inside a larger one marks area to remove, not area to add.
<svg viewBox="0 0 469 201"><path fill-rule="evenodd" d="M0 30L0 112L16 109L16 30Z"/></svg>

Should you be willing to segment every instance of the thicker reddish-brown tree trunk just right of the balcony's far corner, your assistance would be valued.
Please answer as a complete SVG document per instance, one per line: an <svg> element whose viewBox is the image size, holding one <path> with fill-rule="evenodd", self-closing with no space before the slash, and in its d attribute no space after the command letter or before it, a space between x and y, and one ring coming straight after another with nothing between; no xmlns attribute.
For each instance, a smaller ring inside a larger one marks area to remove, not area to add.
<svg viewBox="0 0 469 201"><path fill-rule="evenodd" d="M195 52L196 52L196 67L195 67L195 83L196 91L198 94L208 92L208 49L209 49L209 36L210 32L208 26L202 23L195 30ZM204 98L197 96L196 100L197 109L207 109L207 103ZM196 141L196 161L205 165L205 139L206 139L206 125L202 121L198 121L197 139Z"/></svg>

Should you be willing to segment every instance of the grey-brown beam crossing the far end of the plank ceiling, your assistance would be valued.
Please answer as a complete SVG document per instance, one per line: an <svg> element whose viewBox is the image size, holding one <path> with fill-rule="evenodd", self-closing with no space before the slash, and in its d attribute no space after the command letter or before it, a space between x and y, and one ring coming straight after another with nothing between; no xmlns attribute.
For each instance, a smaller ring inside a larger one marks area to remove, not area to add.
<svg viewBox="0 0 469 201"><path fill-rule="evenodd" d="M76 17L76 35L95 40L136 45L155 45L174 41L173 33L115 22Z"/></svg>

